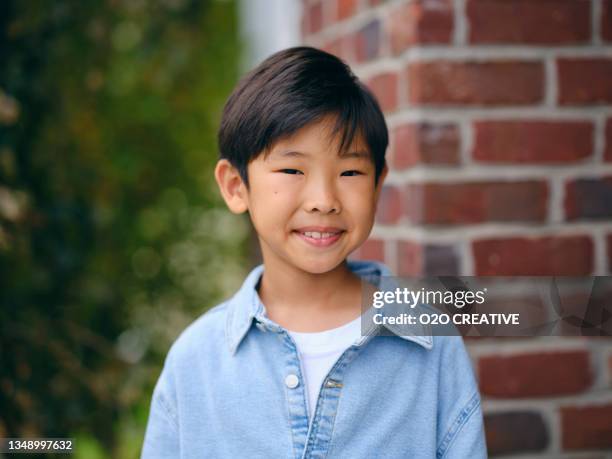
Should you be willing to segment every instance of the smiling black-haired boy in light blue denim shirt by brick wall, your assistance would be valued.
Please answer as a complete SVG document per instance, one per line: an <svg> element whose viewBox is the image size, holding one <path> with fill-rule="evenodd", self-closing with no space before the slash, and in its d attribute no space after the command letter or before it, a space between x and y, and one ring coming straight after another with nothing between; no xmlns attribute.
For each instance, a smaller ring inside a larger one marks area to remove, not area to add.
<svg viewBox="0 0 612 459"><path fill-rule="evenodd" d="M215 178L263 264L172 346L143 458L486 457L460 337L361 334L362 283L392 273L347 256L372 228L387 144L375 98L330 54L287 49L241 80Z"/></svg>

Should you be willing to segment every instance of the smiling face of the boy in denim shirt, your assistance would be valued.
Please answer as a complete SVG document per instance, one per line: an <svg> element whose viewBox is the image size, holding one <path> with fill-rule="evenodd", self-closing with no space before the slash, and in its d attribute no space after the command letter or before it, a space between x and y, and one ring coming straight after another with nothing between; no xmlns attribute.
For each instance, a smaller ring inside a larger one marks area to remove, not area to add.
<svg viewBox="0 0 612 459"><path fill-rule="evenodd" d="M387 168L375 187L366 144L356 136L339 156L333 122L327 117L278 141L249 163L250 189L240 181L230 200L217 179L231 210L248 209L267 267L325 273L370 234Z"/></svg>

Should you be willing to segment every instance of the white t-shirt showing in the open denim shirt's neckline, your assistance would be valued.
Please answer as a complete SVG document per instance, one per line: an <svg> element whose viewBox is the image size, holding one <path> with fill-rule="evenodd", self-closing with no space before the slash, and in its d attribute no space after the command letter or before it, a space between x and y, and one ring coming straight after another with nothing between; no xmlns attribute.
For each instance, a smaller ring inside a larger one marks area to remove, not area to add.
<svg viewBox="0 0 612 459"><path fill-rule="evenodd" d="M297 345L312 420L323 379L342 353L361 336L361 316L337 328L315 333L288 330Z"/></svg>

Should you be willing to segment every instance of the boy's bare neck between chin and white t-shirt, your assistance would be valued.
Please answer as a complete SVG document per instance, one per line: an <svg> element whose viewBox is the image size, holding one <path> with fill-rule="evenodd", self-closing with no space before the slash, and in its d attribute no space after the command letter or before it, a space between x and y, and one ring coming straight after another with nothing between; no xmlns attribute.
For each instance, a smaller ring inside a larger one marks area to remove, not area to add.
<svg viewBox="0 0 612 459"><path fill-rule="evenodd" d="M268 318L287 330L328 330L361 314L361 279L346 260L323 274L264 265L259 297Z"/></svg>

